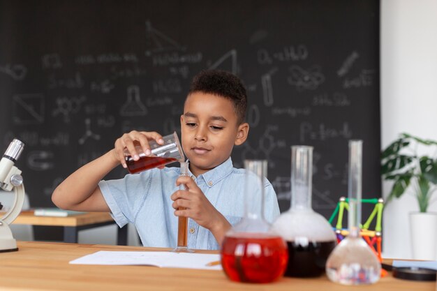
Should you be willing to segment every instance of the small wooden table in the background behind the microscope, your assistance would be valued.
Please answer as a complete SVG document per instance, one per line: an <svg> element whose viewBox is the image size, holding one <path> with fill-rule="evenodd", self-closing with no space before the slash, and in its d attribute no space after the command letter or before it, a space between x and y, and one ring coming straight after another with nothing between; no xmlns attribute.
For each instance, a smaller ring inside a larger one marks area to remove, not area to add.
<svg viewBox="0 0 437 291"><path fill-rule="evenodd" d="M23 211L13 224L44 225L64 227L64 242L77 243L78 232L93 227L116 224L108 212L87 212L66 217L34 216L33 211ZM117 244L126 246L128 242L128 227L117 226Z"/></svg>

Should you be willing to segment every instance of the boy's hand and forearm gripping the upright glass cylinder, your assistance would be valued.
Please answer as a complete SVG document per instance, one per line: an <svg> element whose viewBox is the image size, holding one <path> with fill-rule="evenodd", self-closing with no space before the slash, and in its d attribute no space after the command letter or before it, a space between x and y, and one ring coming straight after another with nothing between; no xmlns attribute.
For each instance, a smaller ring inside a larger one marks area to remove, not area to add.
<svg viewBox="0 0 437 291"><path fill-rule="evenodd" d="M232 225L209 202L191 177L179 177L176 184L177 186L184 184L187 191L179 190L171 196L174 201L172 206L176 209L175 216L186 216L193 219L196 223L212 232L218 244L221 244L226 232L230 230ZM186 207L186 209L177 210L179 207Z"/></svg>

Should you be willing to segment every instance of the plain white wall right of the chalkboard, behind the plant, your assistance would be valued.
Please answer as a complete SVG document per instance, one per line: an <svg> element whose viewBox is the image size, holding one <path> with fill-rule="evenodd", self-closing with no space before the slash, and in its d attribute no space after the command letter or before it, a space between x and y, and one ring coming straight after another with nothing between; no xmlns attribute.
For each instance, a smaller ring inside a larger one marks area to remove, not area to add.
<svg viewBox="0 0 437 291"><path fill-rule="evenodd" d="M437 140L437 0L382 0L380 56L382 146L403 132ZM384 211L385 258L412 258L408 213L419 207L403 196Z"/></svg>

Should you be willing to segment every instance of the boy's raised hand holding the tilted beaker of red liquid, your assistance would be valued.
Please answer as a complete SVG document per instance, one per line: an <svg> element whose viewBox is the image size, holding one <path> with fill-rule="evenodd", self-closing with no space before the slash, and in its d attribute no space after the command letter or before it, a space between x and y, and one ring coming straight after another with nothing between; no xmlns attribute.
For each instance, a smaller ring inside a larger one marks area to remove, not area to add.
<svg viewBox="0 0 437 291"><path fill-rule="evenodd" d="M164 140L162 135L156 133L156 131L137 131L132 130L130 133L124 133L121 137L115 140L114 144L114 157L123 165L127 167L125 160L125 151L127 154L133 157L134 161L138 161L140 158L138 148L135 149L135 144L140 145L142 152L149 156L151 154L149 140L155 140L158 144L163 144Z"/></svg>

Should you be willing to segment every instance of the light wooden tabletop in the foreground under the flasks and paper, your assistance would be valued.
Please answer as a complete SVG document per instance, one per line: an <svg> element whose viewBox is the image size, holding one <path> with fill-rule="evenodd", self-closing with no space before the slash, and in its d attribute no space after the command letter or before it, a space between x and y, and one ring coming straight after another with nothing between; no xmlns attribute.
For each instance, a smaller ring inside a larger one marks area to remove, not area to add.
<svg viewBox="0 0 437 291"><path fill-rule="evenodd" d="M68 264L96 251L168 251L164 248L36 241L19 241L18 247L20 250L17 252L0 253L0 290L436 290L434 282L404 281L393 278L390 272L374 285L351 287L332 283L326 276L281 278L275 283L247 284L229 281L223 271Z"/></svg>

